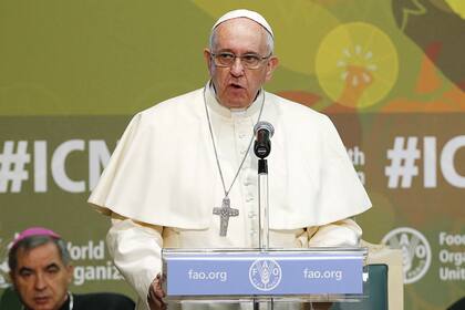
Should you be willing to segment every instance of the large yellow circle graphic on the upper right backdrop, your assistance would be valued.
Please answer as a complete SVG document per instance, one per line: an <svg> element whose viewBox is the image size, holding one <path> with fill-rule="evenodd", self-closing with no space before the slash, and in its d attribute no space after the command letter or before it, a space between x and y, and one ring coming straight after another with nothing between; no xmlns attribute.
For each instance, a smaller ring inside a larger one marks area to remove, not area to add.
<svg viewBox="0 0 465 310"><path fill-rule="evenodd" d="M394 85L399 73L397 52L379 28L364 22L345 23L322 40L316 72L331 100L364 108L380 102Z"/></svg>

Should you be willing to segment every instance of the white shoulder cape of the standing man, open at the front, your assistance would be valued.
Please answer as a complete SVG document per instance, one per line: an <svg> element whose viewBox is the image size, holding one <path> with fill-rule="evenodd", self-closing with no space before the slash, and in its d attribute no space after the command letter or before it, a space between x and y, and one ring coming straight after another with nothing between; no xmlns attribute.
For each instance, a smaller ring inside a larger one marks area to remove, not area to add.
<svg viewBox="0 0 465 310"><path fill-rule="evenodd" d="M270 228L319 226L370 208L331 121L265 94L261 118L276 130L268 158ZM213 193L220 188L214 186L220 182L214 154L203 90L165 101L133 117L89 202L152 225L206 229L223 195Z"/></svg>

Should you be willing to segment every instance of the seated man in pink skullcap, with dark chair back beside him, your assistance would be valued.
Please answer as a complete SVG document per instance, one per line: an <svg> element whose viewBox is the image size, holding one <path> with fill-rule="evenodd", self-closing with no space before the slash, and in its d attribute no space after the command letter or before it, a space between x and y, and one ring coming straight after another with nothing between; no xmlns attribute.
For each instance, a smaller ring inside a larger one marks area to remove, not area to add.
<svg viewBox="0 0 465 310"><path fill-rule="evenodd" d="M8 264L22 309L134 309L130 298L117 293L71 293L71 257L63 239L50 229L33 227L19 234L9 251Z"/></svg>

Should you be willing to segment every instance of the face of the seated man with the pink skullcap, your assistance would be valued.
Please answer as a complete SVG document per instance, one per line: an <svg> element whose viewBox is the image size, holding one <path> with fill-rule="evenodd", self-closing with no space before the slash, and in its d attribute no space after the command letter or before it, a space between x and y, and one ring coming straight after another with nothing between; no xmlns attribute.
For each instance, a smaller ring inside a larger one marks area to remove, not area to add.
<svg viewBox="0 0 465 310"><path fill-rule="evenodd" d="M16 290L28 309L56 310L66 300L72 266L64 266L54 244L29 251L20 249L18 266L10 276Z"/></svg>

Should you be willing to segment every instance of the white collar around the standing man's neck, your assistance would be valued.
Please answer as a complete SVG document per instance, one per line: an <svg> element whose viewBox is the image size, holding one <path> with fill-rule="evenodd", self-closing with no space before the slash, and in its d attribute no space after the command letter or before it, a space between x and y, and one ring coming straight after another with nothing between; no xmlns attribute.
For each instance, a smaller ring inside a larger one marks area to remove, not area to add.
<svg viewBox="0 0 465 310"><path fill-rule="evenodd" d="M215 113L225 116L227 118L231 118L234 116L252 116L256 113L259 113L260 111L260 105L262 102L262 96L264 96L264 90L260 90L258 96L255 99L255 101L252 102L252 104L249 105L249 107L247 108L228 108L224 105L221 105L217 97L216 97L216 91L215 87L213 86L211 81L208 81L207 85L206 85L206 101L207 101L207 105L208 107L214 111Z"/></svg>

